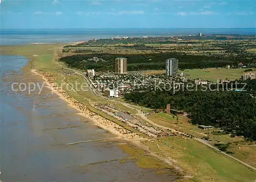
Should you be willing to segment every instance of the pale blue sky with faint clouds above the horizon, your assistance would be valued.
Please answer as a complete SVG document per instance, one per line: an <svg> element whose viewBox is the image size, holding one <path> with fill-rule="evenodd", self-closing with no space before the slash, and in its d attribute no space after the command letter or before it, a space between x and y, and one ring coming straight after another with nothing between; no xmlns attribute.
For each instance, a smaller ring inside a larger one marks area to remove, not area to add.
<svg viewBox="0 0 256 182"><path fill-rule="evenodd" d="M255 0L2 0L1 28L255 28Z"/></svg>

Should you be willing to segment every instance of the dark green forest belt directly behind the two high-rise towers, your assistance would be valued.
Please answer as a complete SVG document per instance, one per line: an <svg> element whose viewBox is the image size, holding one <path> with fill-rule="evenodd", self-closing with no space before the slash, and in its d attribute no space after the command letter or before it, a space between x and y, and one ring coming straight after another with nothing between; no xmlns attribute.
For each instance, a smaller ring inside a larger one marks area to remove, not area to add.
<svg viewBox="0 0 256 182"><path fill-rule="evenodd" d="M106 62L87 61L88 58L98 57ZM128 71L140 70L164 70L165 60L170 57L179 59L179 69L203 69L207 67L224 67L227 64L237 65L240 61L251 63L251 60L243 57L233 57L232 59L223 56L205 56L205 55L186 55L178 53L152 53L152 54L87 54L73 55L60 58L60 61L66 62L69 66L77 69L95 69L100 71L114 71L114 61L117 57L127 58Z"/></svg>

